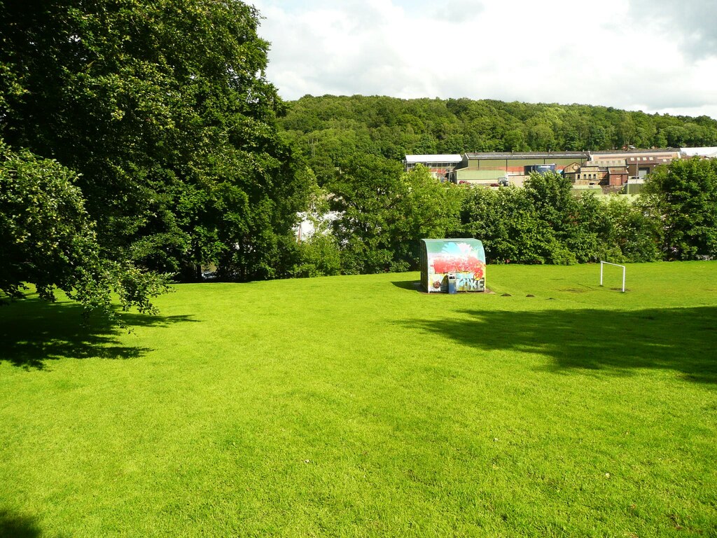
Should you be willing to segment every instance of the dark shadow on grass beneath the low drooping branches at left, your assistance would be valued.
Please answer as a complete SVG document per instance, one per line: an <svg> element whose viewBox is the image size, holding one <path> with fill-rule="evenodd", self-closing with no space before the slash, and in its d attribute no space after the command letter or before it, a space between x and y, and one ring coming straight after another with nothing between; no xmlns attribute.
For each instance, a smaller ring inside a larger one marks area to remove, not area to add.
<svg viewBox="0 0 717 538"><path fill-rule="evenodd" d="M140 313L119 314L129 327L167 326L194 321L190 316L148 316ZM118 336L127 329L112 326L100 316L82 318L75 303L49 303L26 298L0 306L0 362L17 367L44 369L55 359L134 359L148 347L120 344Z"/></svg>

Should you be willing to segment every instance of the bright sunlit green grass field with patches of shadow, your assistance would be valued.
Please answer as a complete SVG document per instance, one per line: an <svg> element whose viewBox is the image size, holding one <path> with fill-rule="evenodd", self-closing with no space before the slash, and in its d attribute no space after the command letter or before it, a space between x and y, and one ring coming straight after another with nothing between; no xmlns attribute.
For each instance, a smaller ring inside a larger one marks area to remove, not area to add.
<svg viewBox="0 0 717 538"><path fill-rule="evenodd" d="M0 307L0 536L717 536L717 263L417 278Z"/></svg>

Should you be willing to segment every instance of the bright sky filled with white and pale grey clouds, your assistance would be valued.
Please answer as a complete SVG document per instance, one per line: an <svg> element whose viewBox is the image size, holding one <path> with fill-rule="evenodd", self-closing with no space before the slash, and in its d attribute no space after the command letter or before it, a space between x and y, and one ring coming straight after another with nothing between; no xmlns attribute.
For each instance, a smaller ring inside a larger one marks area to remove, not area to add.
<svg viewBox="0 0 717 538"><path fill-rule="evenodd" d="M717 119L717 0L249 0L286 100L581 103Z"/></svg>

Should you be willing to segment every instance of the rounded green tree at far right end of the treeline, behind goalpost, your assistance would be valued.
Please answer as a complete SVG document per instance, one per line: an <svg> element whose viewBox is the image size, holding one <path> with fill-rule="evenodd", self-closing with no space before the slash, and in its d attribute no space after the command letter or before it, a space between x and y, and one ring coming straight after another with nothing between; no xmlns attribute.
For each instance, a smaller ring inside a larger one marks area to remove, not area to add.
<svg viewBox="0 0 717 538"><path fill-rule="evenodd" d="M717 159L679 159L645 181L645 199L663 227L667 259L717 256Z"/></svg>

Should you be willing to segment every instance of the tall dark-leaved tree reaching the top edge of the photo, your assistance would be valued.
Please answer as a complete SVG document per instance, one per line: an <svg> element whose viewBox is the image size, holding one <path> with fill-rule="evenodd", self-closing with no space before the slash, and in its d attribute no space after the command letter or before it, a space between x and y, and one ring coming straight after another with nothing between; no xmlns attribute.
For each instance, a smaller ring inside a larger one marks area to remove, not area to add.
<svg viewBox="0 0 717 538"><path fill-rule="evenodd" d="M0 135L57 159L115 259L267 278L303 202L240 1L0 2Z"/></svg>

